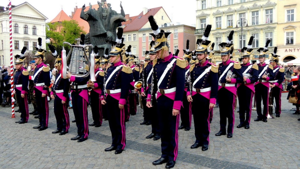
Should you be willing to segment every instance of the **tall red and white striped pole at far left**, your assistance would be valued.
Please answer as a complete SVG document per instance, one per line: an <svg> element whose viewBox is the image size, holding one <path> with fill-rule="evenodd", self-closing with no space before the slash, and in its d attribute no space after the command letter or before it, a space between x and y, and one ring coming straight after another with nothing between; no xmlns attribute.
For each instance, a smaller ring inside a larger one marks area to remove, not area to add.
<svg viewBox="0 0 300 169"><path fill-rule="evenodd" d="M12 118L15 118L14 99L13 99L13 64L12 64L12 2L9 0L9 40L10 40L10 81L12 91ZM9 73L9 72L8 72Z"/></svg>

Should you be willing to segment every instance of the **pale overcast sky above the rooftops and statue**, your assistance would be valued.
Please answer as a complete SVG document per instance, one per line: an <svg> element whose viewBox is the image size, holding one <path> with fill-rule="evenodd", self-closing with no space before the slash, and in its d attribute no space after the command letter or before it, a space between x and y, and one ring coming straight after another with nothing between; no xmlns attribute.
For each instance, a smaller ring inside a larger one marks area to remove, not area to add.
<svg viewBox="0 0 300 169"><path fill-rule="evenodd" d="M97 4L97 0L11 0L12 5L19 5L24 2L30 3L34 8L45 15L50 22L63 8L67 15L71 15L75 6L81 8L85 3L86 6L91 3ZM101 1L101 0L99 0ZM192 25L196 23L196 1L184 0L181 1L166 1L166 0L107 0L107 3L112 4L112 9L119 12L120 2L125 11L125 14L136 16L143 11L143 8L156 8L162 6L173 23ZM184 2L184 3L183 3ZM9 0L1 0L0 6L7 7Z"/></svg>

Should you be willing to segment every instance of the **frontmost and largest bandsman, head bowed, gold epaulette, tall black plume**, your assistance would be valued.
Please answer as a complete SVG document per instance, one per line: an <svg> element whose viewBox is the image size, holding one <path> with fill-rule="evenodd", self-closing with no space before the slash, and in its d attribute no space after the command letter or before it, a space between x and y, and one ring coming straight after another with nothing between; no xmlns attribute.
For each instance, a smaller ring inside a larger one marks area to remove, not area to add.
<svg viewBox="0 0 300 169"><path fill-rule="evenodd" d="M162 141L162 156L152 164L160 165L167 162L166 168L172 168L178 156L179 111L182 106L186 64L185 59L175 58L169 53L167 37L170 32L161 33L152 15L148 19L155 34L153 47L158 57L157 63L153 63L152 92L157 95ZM150 97L148 93L148 98ZM150 99L147 99L147 107L152 107Z"/></svg>

